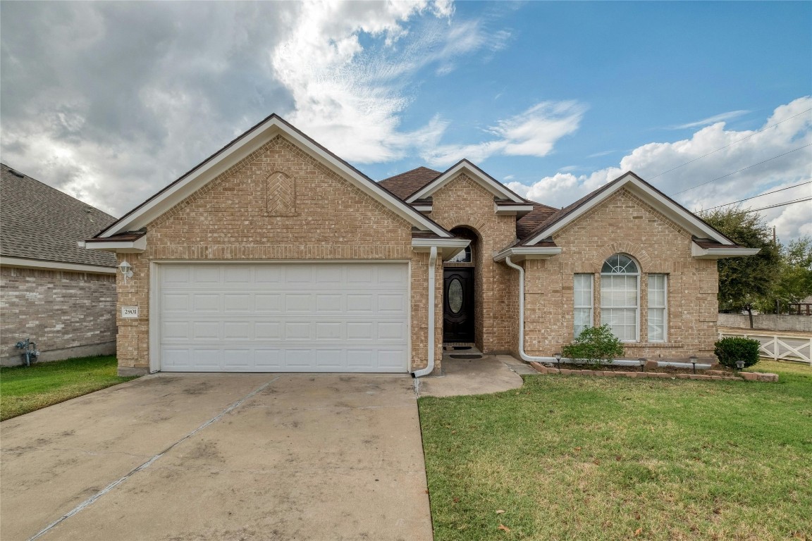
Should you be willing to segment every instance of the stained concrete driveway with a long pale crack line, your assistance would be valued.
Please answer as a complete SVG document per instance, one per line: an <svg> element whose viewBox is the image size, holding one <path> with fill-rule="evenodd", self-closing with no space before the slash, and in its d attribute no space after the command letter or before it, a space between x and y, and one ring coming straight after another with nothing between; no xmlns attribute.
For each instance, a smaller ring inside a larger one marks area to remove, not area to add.
<svg viewBox="0 0 812 541"><path fill-rule="evenodd" d="M432 537L405 375L145 376L0 430L8 541Z"/></svg>

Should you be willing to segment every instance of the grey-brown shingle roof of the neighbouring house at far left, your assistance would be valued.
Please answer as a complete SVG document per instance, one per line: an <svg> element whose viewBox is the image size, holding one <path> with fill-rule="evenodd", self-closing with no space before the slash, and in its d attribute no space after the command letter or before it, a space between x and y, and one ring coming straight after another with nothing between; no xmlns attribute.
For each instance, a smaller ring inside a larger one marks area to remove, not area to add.
<svg viewBox="0 0 812 541"><path fill-rule="evenodd" d="M0 255L115 267L115 255L76 245L114 217L7 165L0 170Z"/></svg>

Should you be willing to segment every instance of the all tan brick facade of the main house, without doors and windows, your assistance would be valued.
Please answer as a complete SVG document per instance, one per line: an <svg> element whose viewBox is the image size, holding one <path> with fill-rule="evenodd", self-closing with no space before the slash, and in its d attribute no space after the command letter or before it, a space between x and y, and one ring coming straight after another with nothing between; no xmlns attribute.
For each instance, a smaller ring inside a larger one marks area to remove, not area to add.
<svg viewBox="0 0 812 541"><path fill-rule="evenodd" d="M519 354L518 273L494 256L516 241L516 216L495 212L494 194L461 172L431 194L429 217L447 230L473 232L475 341L486 353ZM366 195L283 135L262 144L147 226L141 254L119 254L134 276L119 277L119 307L138 306L140 318L119 317L119 370L149 367L150 268L178 261L402 261L410 264L410 369L427 363L428 262L412 250L412 225ZM560 255L523 263L525 350L550 356L573 334L573 273L594 274L595 323L600 322L600 269L615 253L640 264L640 341L626 355L650 358L710 356L715 341L717 274L714 260L691 255L691 235L630 191L621 189L554 236ZM646 336L648 273L668 275L668 338ZM443 346L443 262L435 277L434 361ZM118 311L120 314L120 310Z"/></svg>

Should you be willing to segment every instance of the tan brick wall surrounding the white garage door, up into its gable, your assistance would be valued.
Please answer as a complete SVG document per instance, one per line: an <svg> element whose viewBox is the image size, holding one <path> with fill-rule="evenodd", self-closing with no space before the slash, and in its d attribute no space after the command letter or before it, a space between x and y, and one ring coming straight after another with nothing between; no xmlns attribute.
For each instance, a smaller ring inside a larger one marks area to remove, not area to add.
<svg viewBox="0 0 812 541"><path fill-rule="evenodd" d="M280 206L280 201L282 206ZM282 136L257 148L147 225L147 250L119 254L134 276L119 281L119 373L149 369L149 263L153 260L401 260L412 263L412 369L424 367L427 254L411 225ZM442 302L442 269L438 281ZM441 314L442 317L442 314ZM442 333L442 319L439 328ZM442 335L435 359L442 355Z"/></svg>

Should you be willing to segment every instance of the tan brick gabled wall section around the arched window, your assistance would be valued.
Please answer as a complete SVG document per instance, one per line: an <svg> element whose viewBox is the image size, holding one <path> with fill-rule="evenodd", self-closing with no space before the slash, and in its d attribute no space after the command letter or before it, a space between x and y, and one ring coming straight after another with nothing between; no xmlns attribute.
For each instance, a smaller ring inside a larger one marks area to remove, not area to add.
<svg viewBox="0 0 812 541"><path fill-rule="evenodd" d="M718 273L715 260L691 257L691 236L626 190L611 195L553 238L563 249L548 260L525 262L525 349L551 356L573 338L573 273L594 274L594 323L600 324L600 271L612 254L632 255L640 266L640 341L627 357L713 356L717 339ZM647 337L647 273L666 273L667 341Z"/></svg>

